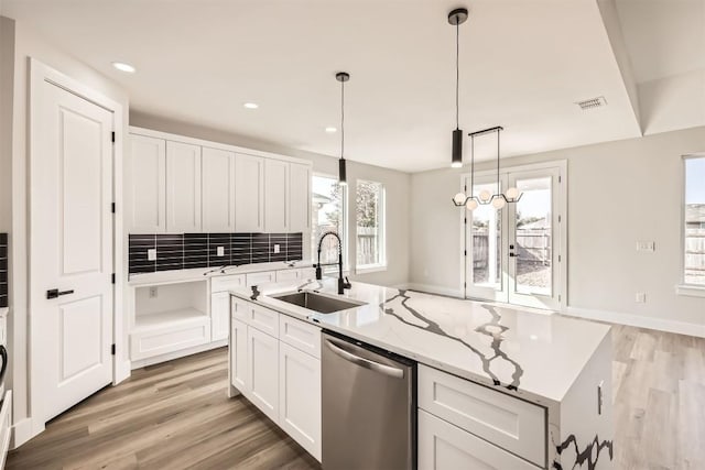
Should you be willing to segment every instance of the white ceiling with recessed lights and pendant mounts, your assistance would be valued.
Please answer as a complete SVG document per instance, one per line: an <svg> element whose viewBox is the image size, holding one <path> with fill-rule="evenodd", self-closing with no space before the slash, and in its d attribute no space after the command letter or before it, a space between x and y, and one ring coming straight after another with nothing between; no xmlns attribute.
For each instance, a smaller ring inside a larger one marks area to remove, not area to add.
<svg viewBox="0 0 705 470"><path fill-rule="evenodd" d="M685 3L618 0L638 80L703 66L703 48L679 28L662 34L687 47L649 61L661 44L650 41L651 15L693 29ZM641 135L595 0L4 0L2 14L118 81L133 110L328 155L339 154L339 133L324 132L339 127L334 75L347 70L346 157L414 172L449 163L446 17L458 6L470 10L460 26L466 132L503 125L502 156ZM574 103L597 96L606 108ZM480 159L494 156L491 138L478 144Z"/></svg>

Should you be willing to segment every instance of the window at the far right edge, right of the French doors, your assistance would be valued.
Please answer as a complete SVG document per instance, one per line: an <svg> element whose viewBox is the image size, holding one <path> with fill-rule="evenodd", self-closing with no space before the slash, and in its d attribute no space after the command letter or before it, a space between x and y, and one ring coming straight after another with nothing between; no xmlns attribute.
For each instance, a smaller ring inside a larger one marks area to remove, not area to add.
<svg viewBox="0 0 705 470"><path fill-rule="evenodd" d="M705 155L685 159L683 282L705 287Z"/></svg>

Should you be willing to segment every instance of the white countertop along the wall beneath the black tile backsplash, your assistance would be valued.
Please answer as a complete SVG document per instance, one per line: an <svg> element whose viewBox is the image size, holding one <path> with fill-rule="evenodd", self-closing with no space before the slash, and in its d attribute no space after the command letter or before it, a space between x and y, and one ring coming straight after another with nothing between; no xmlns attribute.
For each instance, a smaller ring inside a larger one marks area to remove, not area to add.
<svg viewBox="0 0 705 470"><path fill-rule="evenodd" d="M155 273L134 273L130 274L128 278L128 285L150 285L150 284L169 284L177 282L193 282L205 281L209 277L234 275L234 274L248 274L259 273L262 271L282 271L282 270L296 270L301 267L312 267L311 261L296 261L291 266L289 262L279 261L273 263L256 263L243 264L241 266L226 267L225 273L220 271L213 271L215 267L196 267L192 270L171 270L171 271L158 271Z"/></svg>

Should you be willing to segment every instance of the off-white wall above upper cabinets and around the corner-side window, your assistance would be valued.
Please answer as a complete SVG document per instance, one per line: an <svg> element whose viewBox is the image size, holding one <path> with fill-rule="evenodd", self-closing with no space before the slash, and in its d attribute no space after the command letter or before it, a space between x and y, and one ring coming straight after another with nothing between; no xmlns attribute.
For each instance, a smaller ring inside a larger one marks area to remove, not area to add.
<svg viewBox="0 0 705 470"><path fill-rule="evenodd" d="M130 111L130 125L145 129L153 129L162 132L170 132L191 138L205 139L214 142L221 142L231 145L239 145L248 149L264 152L280 153L295 156L313 162L314 173L337 175L338 160L321 155L317 153L297 151L283 147L271 142L262 142L254 139L237 135L214 129L202 128L185 122L174 121L161 117L153 117L145 113ZM387 262L386 271L350 275L350 278L372 284L395 285L406 283L409 278L409 197L411 177L406 173L382 168L380 166L366 165L361 163L347 163L348 187L350 188L350 200L354 204L354 190L356 181L371 179L384 185L387 192ZM355 240L355 211L348 211L348 229L350 230L348 240ZM311 247L304 240L304 247ZM310 253L310 252L308 252ZM304 251L304 256L307 254ZM348 260L355 261L355 245L350 242L348 247Z"/></svg>

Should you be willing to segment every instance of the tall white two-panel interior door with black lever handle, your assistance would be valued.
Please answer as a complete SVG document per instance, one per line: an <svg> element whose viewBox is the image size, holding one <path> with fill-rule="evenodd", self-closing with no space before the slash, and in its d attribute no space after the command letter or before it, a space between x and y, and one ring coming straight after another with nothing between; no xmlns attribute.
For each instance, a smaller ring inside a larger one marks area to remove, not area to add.
<svg viewBox="0 0 705 470"><path fill-rule="evenodd" d="M112 380L113 117L48 81L33 94L32 387L47 420Z"/></svg>

